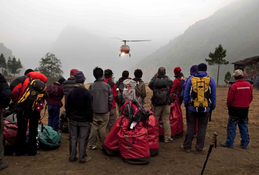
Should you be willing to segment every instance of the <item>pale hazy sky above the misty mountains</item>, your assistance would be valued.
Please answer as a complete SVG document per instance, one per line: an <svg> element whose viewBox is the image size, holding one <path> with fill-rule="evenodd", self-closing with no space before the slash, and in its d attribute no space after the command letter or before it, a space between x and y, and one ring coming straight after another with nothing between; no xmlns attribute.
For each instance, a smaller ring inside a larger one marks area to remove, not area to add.
<svg viewBox="0 0 259 175"><path fill-rule="evenodd" d="M152 39L160 46L232 1L0 0L0 42L21 60L31 54L37 63L67 25L127 40Z"/></svg>

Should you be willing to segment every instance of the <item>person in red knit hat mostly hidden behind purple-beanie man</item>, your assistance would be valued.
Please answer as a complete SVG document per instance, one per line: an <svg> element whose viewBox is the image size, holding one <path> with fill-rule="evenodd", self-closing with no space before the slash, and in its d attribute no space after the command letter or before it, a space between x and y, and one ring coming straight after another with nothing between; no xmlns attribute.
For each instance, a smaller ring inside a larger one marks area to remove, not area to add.
<svg viewBox="0 0 259 175"><path fill-rule="evenodd" d="M70 70L70 77L63 82L63 91L64 91L64 97L65 97L65 101L67 98L67 94L68 92L74 88L76 82L75 82L75 77L74 77L74 73L78 71L77 69L71 69ZM69 118L67 118L67 125L68 125L68 132L70 133L70 120Z"/></svg>

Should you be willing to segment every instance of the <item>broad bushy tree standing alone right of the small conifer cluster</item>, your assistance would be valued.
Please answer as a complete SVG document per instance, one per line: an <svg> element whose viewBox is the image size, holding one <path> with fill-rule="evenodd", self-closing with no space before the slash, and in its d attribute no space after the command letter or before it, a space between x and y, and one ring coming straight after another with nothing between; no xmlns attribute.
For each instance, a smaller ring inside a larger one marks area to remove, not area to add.
<svg viewBox="0 0 259 175"><path fill-rule="evenodd" d="M60 59L52 53L47 53L45 58L41 58L39 67L36 67L35 70L43 73L48 78L48 83L52 83L62 77L63 71L61 70L61 67Z"/></svg>

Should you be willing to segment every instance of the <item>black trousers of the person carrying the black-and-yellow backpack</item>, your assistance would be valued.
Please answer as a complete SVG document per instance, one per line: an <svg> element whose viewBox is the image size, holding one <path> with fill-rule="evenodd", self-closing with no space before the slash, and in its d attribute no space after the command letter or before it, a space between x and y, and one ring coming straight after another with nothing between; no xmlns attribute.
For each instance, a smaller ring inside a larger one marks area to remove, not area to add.
<svg viewBox="0 0 259 175"><path fill-rule="evenodd" d="M38 136L38 115L33 115L30 119L24 117L22 114L17 114L18 138L17 138L17 155L34 155L37 153L37 139ZM29 120L29 140L28 146L25 147L27 125Z"/></svg>

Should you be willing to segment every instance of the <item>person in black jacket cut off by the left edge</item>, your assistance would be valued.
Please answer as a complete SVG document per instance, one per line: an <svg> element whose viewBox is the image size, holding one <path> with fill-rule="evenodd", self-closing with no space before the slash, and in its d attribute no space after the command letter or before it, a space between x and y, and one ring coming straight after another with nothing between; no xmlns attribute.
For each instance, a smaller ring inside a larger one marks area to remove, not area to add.
<svg viewBox="0 0 259 175"><path fill-rule="evenodd" d="M0 73L0 170L8 167L8 162L2 162L4 156L4 145L3 145L3 137L4 137L4 116L3 111L4 108L7 108L11 101L11 90L4 78L4 76Z"/></svg>

